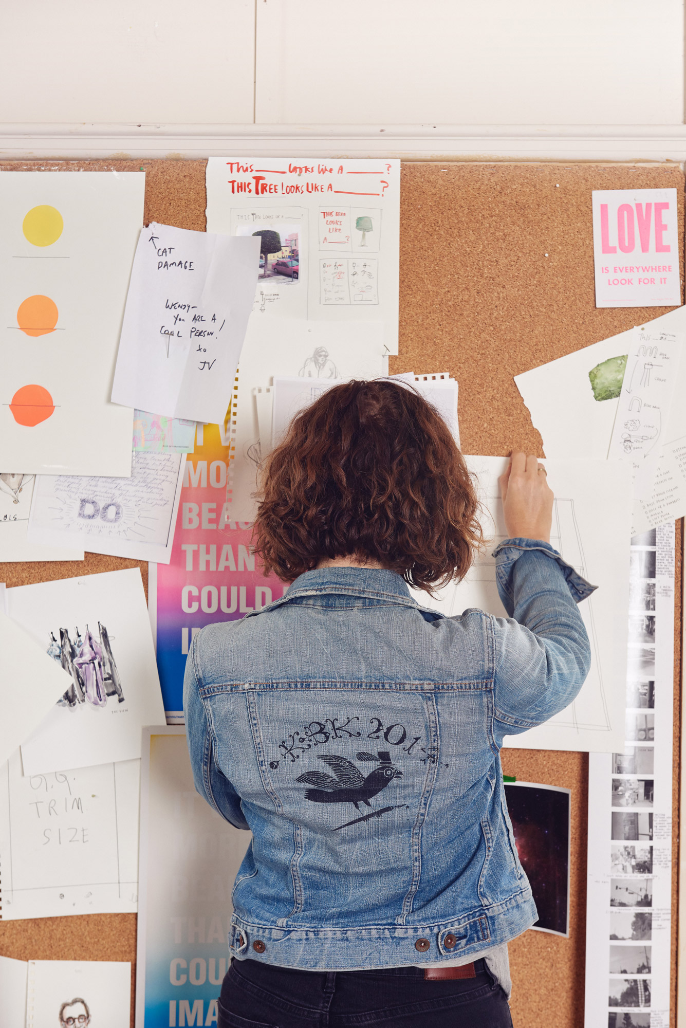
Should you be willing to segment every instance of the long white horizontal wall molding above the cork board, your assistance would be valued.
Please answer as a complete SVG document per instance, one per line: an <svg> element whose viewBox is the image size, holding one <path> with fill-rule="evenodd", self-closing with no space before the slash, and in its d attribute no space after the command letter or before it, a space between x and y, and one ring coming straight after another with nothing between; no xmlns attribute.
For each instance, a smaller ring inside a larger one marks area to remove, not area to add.
<svg viewBox="0 0 686 1028"><path fill-rule="evenodd" d="M0 124L0 159L686 161L686 125Z"/></svg>

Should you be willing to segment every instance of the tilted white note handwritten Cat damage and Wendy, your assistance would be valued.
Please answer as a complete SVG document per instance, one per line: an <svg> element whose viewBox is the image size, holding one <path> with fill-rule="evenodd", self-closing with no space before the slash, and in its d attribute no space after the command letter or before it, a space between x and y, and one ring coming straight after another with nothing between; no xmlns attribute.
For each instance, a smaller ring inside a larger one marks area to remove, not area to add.
<svg viewBox="0 0 686 1028"><path fill-rule="evenodd" d="M218 424L253 308L260 241L152 222L136 250L112 400Z"/></svg>

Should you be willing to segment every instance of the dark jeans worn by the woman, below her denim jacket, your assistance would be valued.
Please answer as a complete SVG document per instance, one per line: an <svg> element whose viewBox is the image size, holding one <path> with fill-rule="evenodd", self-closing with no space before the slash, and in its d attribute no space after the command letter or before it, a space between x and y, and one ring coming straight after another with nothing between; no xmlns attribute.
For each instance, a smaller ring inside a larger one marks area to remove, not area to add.
<svg viewBox="0 0 686 1028"><path fill-rule="evenodd" d="M232 960L218 1028L511 1028L484 960L475 978L425 981L418 967L310 971Z"/></svg>

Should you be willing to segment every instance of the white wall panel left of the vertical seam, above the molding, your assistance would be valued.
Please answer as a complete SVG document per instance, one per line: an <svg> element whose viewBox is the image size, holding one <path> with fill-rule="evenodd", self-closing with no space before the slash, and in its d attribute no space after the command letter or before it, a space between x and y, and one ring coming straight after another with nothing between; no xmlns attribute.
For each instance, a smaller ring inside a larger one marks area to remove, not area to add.
<svg viewBox="0 0 686 1028"><path fill-rule="evenodd" d="M0 122L253 121L255 0L4 0Z"/></svg>

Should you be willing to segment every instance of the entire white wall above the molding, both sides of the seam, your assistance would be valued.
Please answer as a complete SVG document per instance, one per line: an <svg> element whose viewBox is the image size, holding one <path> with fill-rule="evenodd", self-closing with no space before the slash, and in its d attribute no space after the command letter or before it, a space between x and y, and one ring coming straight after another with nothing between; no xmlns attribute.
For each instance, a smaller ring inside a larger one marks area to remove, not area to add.
<svg viewBox="0 0 686 1028"><path fill-rule="evenodd" d="M683 0L6 0L0 122L678 125L683 22Z"/></svg>

